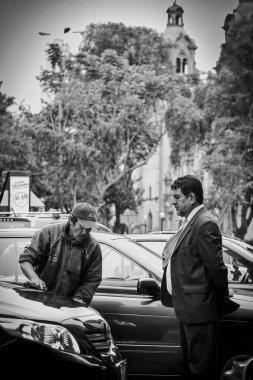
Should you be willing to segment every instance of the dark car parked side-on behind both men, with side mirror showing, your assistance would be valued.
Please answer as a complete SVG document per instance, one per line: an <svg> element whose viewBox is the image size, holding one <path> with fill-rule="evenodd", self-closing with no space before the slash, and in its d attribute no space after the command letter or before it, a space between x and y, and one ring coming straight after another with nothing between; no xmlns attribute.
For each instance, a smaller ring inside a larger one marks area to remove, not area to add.
<svg viewBox="0 0 253 380"><path fill-rule="evenodd" d="M31 229L0 231L2 281L25 281L17 264L30 240ZM160 301L161 257L126 235L94 233L103 255L103 280L91 306L109 323L129 378L157 376L168 379L182 374L178 320L173 308ZM250 261L249 270L253 268ZM253 285L235 287L233 299L240 308L221 321L221 379L242 378L253 366ZM7 286L7 285L6 285Z"/></svg>

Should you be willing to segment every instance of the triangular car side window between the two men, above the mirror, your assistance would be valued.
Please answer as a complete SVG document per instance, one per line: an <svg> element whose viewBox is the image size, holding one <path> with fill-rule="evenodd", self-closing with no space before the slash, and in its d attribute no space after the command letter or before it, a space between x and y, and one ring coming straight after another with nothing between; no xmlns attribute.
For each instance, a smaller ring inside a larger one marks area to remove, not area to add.
<svg viewBox="0 0 253 380"><path fill-rule="evenodd" d="M104 243L100 243L100 247L103 257L103 280L138 280L142 277L149 277L146 270L112 247Z"/></svg>

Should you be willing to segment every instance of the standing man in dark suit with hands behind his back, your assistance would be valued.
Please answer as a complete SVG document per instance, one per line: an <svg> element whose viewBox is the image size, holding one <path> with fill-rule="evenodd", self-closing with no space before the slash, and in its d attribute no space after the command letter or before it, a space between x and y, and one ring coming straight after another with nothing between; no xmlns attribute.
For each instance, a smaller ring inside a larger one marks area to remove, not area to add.
<svg viewBox="0 0 253 380"><path fill-rule="evenodd" d="M185 379L214 380L218 321L239 305L228 297L221 233L203 205L201 182L187 175L171 189L172 204L185 219L164 248L161 301L175 308L179 320Z"/></svg>

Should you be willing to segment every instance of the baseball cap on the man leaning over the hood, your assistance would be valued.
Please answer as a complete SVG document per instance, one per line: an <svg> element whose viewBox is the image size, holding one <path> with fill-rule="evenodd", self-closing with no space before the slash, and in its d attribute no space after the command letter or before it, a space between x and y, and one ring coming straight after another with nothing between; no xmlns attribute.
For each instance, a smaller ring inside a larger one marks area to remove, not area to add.
<svg viewBox="0 0 253 380"><path fill-rule="evenodd" d="M92 228L97 226L96 210L95 208L86 202L77 203L71 212L71 215L77 217L78 222L83 228Z"/></svg>

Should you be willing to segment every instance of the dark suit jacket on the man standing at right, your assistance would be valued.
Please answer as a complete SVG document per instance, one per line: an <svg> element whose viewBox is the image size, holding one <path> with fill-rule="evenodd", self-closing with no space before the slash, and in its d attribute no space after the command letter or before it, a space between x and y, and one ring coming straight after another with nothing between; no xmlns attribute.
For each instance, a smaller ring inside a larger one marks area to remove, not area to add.
<svg viewBox="0 0 253 380"><path fill-rule="evenodd" d="M161 301L173 306L186 324L218 320L239 305L229 297L227 267L222 255L219 227L206 210L200 209L185 227L171 255L172 295L161 285Z"/></svg>

